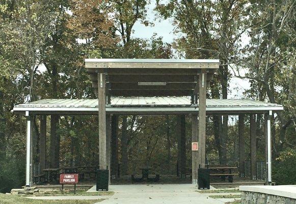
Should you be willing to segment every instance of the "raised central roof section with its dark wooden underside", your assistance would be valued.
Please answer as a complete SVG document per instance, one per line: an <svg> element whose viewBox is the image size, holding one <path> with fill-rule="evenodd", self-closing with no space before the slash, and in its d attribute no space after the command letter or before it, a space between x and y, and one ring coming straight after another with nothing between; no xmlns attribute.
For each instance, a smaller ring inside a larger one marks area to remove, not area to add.
<svg viewBox="0 0 296 204"><path fill-rule="evenodd" d="M96 94L104 74L106 95L191 96L198 94L199 74L206 73L208 83L219 60L85 59L85 67Z"/></svg>

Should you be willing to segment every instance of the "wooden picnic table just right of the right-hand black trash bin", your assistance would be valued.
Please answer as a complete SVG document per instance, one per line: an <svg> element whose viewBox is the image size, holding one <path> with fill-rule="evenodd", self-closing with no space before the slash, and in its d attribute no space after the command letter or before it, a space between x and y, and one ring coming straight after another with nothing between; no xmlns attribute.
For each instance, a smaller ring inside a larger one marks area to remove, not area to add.
<svg viewBox="0 0 296 204"><path fill-rule="evenodd" d="M221 176L222 180L225 181L225 177L228 176L228 181L233 183L233 176L238 175L237 166L227 165L207 165L210 169L210 176Z"/></svg>

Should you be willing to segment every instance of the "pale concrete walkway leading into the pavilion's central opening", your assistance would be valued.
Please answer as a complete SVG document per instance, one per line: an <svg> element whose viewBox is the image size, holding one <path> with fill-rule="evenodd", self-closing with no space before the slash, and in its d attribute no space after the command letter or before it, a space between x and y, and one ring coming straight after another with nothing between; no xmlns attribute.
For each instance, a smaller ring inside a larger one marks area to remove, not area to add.
<svg viewBox="0 0 296 204"><path fill-rule="evenodd" d="M89 192L95 191L95 188L92 187ZM197 187L192 184L111 185L109 190L115 194L98 204L224 203L196 192Z"/></svg>

